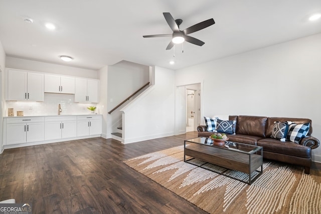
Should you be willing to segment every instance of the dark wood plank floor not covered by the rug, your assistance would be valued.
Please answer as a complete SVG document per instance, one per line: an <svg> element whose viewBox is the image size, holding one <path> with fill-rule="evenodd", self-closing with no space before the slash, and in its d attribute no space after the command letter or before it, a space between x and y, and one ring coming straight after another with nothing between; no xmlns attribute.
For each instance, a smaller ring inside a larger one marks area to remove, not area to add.
<svg viewBox="0 0 321 214"><path fill-rule="evenodd" d="M123 163L195 136L126 145L91 138L6 149L0 155L0 200L32 203L33 213L206 213Z"/></svg>

